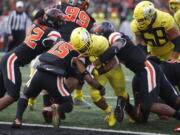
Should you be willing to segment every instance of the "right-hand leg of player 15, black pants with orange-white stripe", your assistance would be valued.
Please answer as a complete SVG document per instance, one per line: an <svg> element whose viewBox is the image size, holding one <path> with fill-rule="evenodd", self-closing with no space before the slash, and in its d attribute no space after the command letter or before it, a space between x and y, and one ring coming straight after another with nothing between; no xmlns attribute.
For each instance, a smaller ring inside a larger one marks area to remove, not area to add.
<svg viewBox="0 0 180 135"><path fill-rule="evenodd" d="M55 127L60 125L60 120L65 119L65 114L73 109L71 92L77 87L78 80L73 78L64 79L56 76L51 78L51 85L45 88L53 97L56 104L52 105L52 122Z"/></svg>

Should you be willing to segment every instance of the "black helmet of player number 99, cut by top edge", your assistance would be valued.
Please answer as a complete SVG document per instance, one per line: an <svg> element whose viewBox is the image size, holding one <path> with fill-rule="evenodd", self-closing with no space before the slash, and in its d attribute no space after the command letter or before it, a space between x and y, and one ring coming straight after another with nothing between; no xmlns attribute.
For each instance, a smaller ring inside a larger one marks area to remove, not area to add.
<svg viewBox="0 0 180 135"><path fill-rule="evenodd" d="M72 0L72 5L82 10L87 10L89 7L89 0Z"/></svg>

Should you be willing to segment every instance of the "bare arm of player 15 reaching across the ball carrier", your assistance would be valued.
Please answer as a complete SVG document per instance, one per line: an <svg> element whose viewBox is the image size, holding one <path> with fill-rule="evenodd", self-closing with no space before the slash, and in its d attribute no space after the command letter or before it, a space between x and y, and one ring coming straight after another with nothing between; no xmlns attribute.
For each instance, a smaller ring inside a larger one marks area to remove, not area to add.
<svg viewBox="0 0 180 135"><path fill-rule="evenodd" d="M90 75L90 73L86 70L84 64L80 60L78 60L78 58L74 58L73 62L84 80L86 80L87 83L95 89L98 89L102 96L105 95L105 88L97 80L95 80L92 75Z"/></svg>

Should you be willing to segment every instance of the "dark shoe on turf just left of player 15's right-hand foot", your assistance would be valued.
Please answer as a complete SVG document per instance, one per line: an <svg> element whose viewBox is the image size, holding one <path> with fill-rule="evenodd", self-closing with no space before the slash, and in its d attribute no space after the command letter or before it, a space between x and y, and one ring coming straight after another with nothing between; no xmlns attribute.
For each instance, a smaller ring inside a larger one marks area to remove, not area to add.
<svg viewBox="0 0 180 135"><path fill-rule="evenodd" d="M42 115L46 123L52 123L52 108L43 107Z"/></svg>

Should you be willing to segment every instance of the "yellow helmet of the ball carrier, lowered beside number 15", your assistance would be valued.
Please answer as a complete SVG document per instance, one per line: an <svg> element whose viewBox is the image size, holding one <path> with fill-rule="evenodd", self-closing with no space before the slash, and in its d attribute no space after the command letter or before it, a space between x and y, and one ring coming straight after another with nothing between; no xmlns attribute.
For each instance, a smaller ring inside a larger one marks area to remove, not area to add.
<svg viewBox="0 0 180 135"><path fill-rule="evenodd" d="M85 28L78 27L74 29L71 33L70 41L77 52L83 56L89 56L91 36Z"/></svg>

